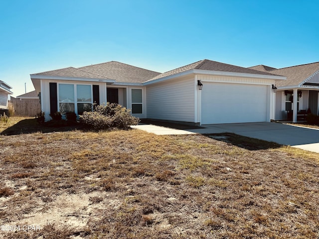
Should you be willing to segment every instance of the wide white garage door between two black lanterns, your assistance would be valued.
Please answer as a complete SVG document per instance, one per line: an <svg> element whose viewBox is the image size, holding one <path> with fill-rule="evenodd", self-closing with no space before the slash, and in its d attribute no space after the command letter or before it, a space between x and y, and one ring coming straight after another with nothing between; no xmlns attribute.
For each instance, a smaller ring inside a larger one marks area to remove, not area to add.
<svg viewBox="0 0 319 239"><path fill-rule="evenodd" d="M204 83L202 124L267 121L267 89L264 85Z"/></svg>

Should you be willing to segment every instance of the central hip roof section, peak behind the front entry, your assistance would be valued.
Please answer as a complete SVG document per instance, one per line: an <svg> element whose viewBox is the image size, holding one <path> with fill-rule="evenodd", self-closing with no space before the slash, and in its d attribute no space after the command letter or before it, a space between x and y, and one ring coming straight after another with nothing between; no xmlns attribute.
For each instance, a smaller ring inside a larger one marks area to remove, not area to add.
<svg viewBox="0 0 319 239"><path fill-rule="evenodd" d="M128 83L143 83L160 75L160 72L146 70L117 61L84 66L77 69L92 72L106 78L116 80L117 82Z"/></svg>

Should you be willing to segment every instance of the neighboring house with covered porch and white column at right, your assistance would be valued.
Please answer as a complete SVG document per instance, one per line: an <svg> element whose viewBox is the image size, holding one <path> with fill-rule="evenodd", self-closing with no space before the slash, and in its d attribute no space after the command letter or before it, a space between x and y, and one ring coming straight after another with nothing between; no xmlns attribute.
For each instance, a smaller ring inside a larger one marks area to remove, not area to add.
<svg viewBox="0 0 319 239"><path fill-rule="evenodd" d="M286 76L286 81L276 81L275 118L294 122L309 110L319 115L319 62L276 69L264 65L250 67L276 75ZM297 102L297 104L295 104ZM291 116L289 116L291 114Z"/></svg>

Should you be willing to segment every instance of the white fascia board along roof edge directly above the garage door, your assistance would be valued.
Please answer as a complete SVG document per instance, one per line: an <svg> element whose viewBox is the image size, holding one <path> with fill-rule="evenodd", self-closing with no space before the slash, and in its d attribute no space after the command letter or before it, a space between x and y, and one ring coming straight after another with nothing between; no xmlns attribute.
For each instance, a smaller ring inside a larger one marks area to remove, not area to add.
<svg viewBox="0 0 319 239"><path fill-rule="evenodd" d="M268 79L268 80L287 80L286 76L271 76L271 75L248 74L248 73L237 73L237 72L227 72L227 71L207 71L207 70L192 70L192 71L195 74L201 74L201 75L260 78L260 79Z"/></svg>

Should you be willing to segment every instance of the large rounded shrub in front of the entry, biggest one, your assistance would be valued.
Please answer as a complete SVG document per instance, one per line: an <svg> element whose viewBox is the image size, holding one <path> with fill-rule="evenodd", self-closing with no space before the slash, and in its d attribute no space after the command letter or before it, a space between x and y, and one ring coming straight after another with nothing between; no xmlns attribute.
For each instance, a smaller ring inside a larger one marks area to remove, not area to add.
<svg viewBox="0 0 319 239"><path fill-rule="evenodd" d="M96 106L94 112L84 112L79 118L84 126L96 130L111 127L127 129L130 125L138 124L140 121L130 114L130 110L114 103Z"/></svg>

